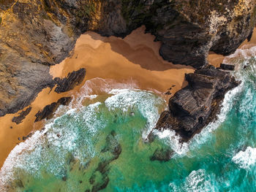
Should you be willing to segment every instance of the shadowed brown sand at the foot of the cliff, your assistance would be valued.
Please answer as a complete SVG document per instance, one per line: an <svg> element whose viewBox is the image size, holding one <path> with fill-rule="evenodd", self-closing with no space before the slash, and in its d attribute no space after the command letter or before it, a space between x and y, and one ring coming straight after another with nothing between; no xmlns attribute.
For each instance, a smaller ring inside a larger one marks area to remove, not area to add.
<svg viewBox="0 0 256 192"><path fill-rule="evenodd" d="M160 42L154 42L154 36L144 33L141 27L124 39L118 37L102 37L94 32L86 32L92 39L110 43L111 50L123 55L133 64L151 71L166 71L168 69L193 69L191 66L174 65L164 61L159 55ZM141 37L141 38L140 38Z"/></svg>

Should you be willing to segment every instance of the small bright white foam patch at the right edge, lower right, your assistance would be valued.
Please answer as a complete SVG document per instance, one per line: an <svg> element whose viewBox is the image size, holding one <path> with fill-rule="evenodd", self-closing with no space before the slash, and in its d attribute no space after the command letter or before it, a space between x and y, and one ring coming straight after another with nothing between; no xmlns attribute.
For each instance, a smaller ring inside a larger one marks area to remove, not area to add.
<svg viewBox="0 0 256 192"><path fill-rule="evenodd" d="M247 147L245 151L238 152L232 161L243 169L249 169L256 163L256 148Z"/></svg>

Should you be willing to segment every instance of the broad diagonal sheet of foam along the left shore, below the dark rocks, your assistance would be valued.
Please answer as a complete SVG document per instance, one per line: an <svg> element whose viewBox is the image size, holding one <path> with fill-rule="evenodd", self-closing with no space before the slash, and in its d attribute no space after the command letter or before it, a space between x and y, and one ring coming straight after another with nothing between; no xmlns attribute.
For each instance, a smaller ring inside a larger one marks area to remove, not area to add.
<svg viewBox="0 0 256 192"><path fill-rule="evenodd" d="M46 124L43 131L36 131L25 142L17 145L1 168L0 191L4 191L4 185L15 178L15 170L22 169L24 173L37 177L42 167L46 166L48 172L59 176L64 174L68 153L80 160L93 157L95 154L90 139L104 126L97 118L100 104L97 102L84 107L79 114L75 109L69 110L66 115ZM68 116L72 119L68 120ZM85 126L83 133L78 127L79 123ZM90 137L84 138L84 134ZM83 147L78 146L78 139L82 141Z"/></svg>

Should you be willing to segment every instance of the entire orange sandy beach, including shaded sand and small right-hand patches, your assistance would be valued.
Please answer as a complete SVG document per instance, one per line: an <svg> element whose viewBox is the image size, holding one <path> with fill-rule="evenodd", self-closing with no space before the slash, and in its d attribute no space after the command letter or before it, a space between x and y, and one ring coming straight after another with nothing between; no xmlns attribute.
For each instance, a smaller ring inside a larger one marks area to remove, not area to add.
<svg viewBox="0 0 256 192"><path fill-rule="evenodd" d="M58 101L61 97L78 95L86 81L99 77L120 83L132 82L138 88L159 93L165 99L170 98L176 91L186 86L184 75L194 72L195 69L164 61L159 55L161 42L154 42L154 36L145 34L144 31L145 27L140 27L124 39L101 37L91 31L81 35L72 56L66 58L61 64L51 66L50 74L53 75L53 78L65 77L69 72L86 68L85 80L75 89L66 93L56 93L50 91L50 88L42 90L31 103L29 115L18 125L12 123L12 118L18 116L19 112L0 118L0 166L13 147L19 142L23 142L22 137L44 126L45 121L34 123L35 114L39 110ZM249 44L244 42L241 46L255 43L256 35L254 33L251 42ZM223 58L222 55L210 53L208 61L214 66L219 66ZM167 91L170 91L171 95L166 95Z"/></svg>

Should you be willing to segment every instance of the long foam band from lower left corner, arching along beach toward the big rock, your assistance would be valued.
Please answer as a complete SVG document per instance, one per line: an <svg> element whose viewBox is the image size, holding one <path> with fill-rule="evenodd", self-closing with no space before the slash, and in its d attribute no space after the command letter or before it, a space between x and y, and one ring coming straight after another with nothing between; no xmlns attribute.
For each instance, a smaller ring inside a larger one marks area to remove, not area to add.
<svg viewBox="0 0 256 192"><path fill-rule="evenodd" d="M124 112L139 110L147 119L147 135L159 118L158 105L165 103L162 98L146 91L111 89L108 93L115 95L110 96L105 104L97 102L87 107L69 109L61 117L46 124L43 131L35 132L31 138L17 145L1 168L0 185L7 185L17 169L35 177L39 176L42 167L58 177L64 175L68 153L81 161L96 155L93 140L97 138L97 132L108 124L102 121L101 107ZM4 191L4 188L0 187L0 191Z"/></svg>

